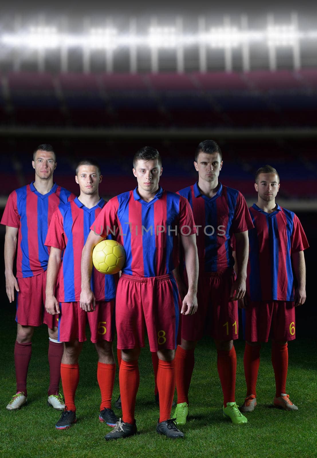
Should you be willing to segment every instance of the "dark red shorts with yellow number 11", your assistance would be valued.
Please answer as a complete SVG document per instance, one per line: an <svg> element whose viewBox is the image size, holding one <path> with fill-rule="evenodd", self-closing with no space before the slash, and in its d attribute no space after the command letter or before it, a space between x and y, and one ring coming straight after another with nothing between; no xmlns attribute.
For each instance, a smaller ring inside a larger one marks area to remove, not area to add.
<svg viewBox="0 0 317 458"><path fill-rule="evenodd" d="M230 300L235 281L232 269L199 274L197 312L181 316L181 337L200 340L207 333L216 340L238 338L238 304Z"/></svg>

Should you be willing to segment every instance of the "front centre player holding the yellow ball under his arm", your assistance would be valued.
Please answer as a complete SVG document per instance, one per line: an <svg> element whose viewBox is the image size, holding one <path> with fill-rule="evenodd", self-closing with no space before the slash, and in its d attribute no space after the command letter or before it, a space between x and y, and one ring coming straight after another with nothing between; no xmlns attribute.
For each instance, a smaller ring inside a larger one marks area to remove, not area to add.
<svg viewBox="0 0 317 458"><path fill-rule="evenodd" d="M158 393L160 416L156 431L170 438L183 437L170 418L175 391L174 354L181 306L173 269L178 263L178 238L185 251L189 288L181 313L197 309L197 247L191 207L181 196L159 186L162 160L152 147L141 148L133 158L137 187L107 203L91 226L82 252L81 304L89 309L94 301L90 289L93 247L115 234L126 251L116 294L118 348L122 350L119 383L122 420L106 440L136 434L134 418L139 386L138 357L144 346L144 322L150 350L158 354ZM100 234L100 235L98 235Z"/></svg>

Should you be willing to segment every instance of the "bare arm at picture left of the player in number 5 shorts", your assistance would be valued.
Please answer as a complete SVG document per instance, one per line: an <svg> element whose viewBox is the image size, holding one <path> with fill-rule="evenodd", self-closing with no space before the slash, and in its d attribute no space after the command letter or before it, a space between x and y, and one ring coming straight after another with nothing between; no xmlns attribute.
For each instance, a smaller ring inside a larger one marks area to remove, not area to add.
<svg viewBox="0 0 317 458"><path fill-rule="evenodd" d="M45 288L45 309L50 315L60 313L60 306L55 297L55 285L60 270L61 250L51 246L49 262L47 265L46 288Z"/></svg>

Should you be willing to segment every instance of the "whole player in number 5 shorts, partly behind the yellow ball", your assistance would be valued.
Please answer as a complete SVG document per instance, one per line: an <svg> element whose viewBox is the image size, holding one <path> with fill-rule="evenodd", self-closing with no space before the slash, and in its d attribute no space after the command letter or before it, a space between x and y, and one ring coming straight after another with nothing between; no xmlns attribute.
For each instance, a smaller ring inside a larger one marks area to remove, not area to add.
<svg viewBox="0 0 317 458"><path fill-rule="evenodd" d="M86 340L88 321L91 341L98 353L97 379L101 392L99 420L115 426L117 418L111 409L111 397L115 382L115 360L112 351L112 317L115 307L115 277L92 271L91 287L95 302L89 310L80 307L80 263L82 248L89 228L105 205L99 197L98 187L102 181L99 165L93 160L82 160L76 168L76 183L80 195L72 202L60 206L52 217L45 245L50 246L47 269L46 302L48 313L59 313L58 340L65 342L60 366L65 411L56 423L57 429L70 428L77 421L75 393L79 382L78 357ZM63 261L60 268L61 255ZM54 294L59 273L58 300Z"/></svg>

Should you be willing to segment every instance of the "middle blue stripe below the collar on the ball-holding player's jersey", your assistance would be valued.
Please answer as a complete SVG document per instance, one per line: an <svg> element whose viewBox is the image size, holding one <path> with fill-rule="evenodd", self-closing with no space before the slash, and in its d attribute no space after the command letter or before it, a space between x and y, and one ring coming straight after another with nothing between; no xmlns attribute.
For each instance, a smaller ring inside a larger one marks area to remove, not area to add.
<svg viewBox="0 0 317 458"><path fill-rule="evenodd" d="M151 204L151 202L150 202ZM156 246L154 228L154 205L142 205L142 248L144 277L156 275ZM145 228L145 229L143 229Z"/></svg>

